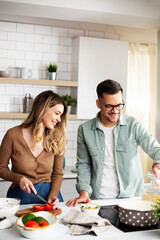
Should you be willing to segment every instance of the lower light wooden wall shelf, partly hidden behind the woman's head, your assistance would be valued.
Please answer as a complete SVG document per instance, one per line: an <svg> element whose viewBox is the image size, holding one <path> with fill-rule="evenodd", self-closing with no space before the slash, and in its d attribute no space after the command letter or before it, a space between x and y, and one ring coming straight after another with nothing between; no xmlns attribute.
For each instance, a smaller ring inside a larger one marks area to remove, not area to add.
<svg viewBox="0 0 160 240"><path fill-rule="evenodd" d="M0 119L25 119L28 113L15 113L15 112L0 112ZM69 120L76 120L76 114L69 114Z"/></svg>

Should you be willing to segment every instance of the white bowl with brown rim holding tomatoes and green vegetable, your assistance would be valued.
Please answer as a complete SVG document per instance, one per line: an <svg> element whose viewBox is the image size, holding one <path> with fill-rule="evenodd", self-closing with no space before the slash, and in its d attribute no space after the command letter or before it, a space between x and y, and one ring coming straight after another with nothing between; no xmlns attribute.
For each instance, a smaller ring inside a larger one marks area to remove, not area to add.
<svg viewBox="0 0 160 240"><path fill-rule="evenodd" d="M53 229L53 225L57 222L57 217L47 211L33 212L33 214L36 217L41 216L45 218L49 222L49 225L39 228L25 227L22 222L22 217L24 216L23 215L19 217L16 221L16 225L20 233L26 238L41 238L45 235L47 236L49 232Z"/></svg>

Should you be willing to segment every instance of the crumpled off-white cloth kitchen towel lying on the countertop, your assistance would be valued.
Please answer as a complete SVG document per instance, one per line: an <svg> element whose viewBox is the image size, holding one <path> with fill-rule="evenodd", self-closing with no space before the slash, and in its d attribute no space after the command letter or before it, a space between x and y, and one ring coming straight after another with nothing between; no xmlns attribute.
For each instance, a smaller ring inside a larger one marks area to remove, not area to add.
<svg viewBox="0 0 160 240"><path fill-rule="evenodd" d="M62 219L62 223L69 226L67 233L70 235L81 235L93 232L98 236L111 225L107 219L101 218L99 215L93 216L73 208L70 209Z"/></svg>

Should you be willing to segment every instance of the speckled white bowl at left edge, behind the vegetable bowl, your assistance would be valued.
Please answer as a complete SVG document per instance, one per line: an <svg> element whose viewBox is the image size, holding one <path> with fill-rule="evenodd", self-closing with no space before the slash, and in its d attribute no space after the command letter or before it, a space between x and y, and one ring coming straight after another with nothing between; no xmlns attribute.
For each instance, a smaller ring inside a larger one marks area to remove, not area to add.
<svg viewBox="0 0 160 240"><path fill-rule="evenodd" d="M12 217L18 211L20 199L16 198L0 198L0 218Z"/></svg>

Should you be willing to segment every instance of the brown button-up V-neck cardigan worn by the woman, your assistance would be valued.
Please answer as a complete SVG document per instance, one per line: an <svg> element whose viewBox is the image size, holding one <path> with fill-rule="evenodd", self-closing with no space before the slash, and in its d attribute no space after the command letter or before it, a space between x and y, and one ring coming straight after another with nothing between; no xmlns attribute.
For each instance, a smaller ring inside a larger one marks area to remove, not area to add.
<svg viewBox="0 0 160 240"><path fill-rule="evenodd" d="M43 150L37 158L30 151L22 135L20 126L11 128L5 134L0 147L0 177L13 182L11 187L19 185L25 176L33 184L52 182L48 197L57 196L63 181L64 155L54 155ZM11 159L12 169L8 168Z"/></svg>

